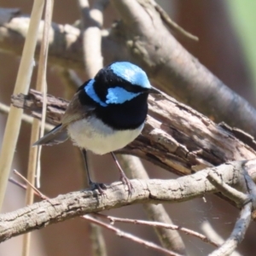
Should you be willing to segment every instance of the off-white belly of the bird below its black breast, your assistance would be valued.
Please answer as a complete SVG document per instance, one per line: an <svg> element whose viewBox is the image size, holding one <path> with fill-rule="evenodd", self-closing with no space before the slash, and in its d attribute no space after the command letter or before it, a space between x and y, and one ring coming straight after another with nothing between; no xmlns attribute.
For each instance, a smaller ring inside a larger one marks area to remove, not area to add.
<svg viewBox="0 0 256 256"><path fill-rule="evenodd" d="M107 154L131 143L141 133L143 126L140 125L137 130L113 131L101 120L91 117L68 125L67 131L79 148L89 149L95 154Z"/></svg>

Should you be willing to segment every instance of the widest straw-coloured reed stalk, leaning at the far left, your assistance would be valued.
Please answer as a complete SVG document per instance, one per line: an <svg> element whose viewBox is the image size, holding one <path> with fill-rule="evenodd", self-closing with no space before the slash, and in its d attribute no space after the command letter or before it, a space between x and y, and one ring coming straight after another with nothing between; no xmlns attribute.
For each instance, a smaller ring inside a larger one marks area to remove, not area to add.
<svg viewBox="0 0 256 256"><path fill-rule="evenodd" d="M17 75L14 94L27 93L32 77L34 65L33 55L35 52L39 23L44 9L44 0L34 1L32 7L31 21L29 24L26 42L22 52L19 72ZM3 205L3 198L8 183L9 171L14 159L17 139L20 132L22 109L10 107L7 125L3 136L3 148L0 155L0 208Z"/></svg>

